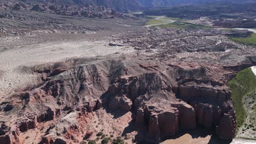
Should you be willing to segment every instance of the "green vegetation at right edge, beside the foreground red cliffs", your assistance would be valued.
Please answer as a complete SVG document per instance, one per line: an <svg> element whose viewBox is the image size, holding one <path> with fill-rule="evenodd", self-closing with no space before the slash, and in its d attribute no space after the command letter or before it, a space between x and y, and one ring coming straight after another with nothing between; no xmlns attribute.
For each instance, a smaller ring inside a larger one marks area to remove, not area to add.
<svg viewBox="0 0 256 144"><path fill-rule="evenodd" d="M244 69L237 73L236 77L228 82L232 92L236 111L237 128L240 128L246 119L246 110L243 106L243 98L252 93L256 88L256 76L251 68Z"/></svg>

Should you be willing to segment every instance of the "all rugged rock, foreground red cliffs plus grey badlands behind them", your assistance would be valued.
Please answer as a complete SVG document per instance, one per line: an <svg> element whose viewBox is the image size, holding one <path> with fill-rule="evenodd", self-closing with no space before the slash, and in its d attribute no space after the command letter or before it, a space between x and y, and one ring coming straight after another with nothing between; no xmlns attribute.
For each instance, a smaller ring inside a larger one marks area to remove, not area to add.
<svg viewBox="0 0 256 144"><path fill-rule="evenodd" d="M236 113L227 82L256 64L256 50L230 34L250 33L143 28L112 35L111 45L137 50L129 55L21 66L38 84L1 101L0 141L78 143L92 139L100 131L92 127L95 119L108 114L123 119L112 123L123 122L120 135L133 134L136 142L158 143L199 125L233 139ZM35 137L27 137L31 130Z"/></svg>

